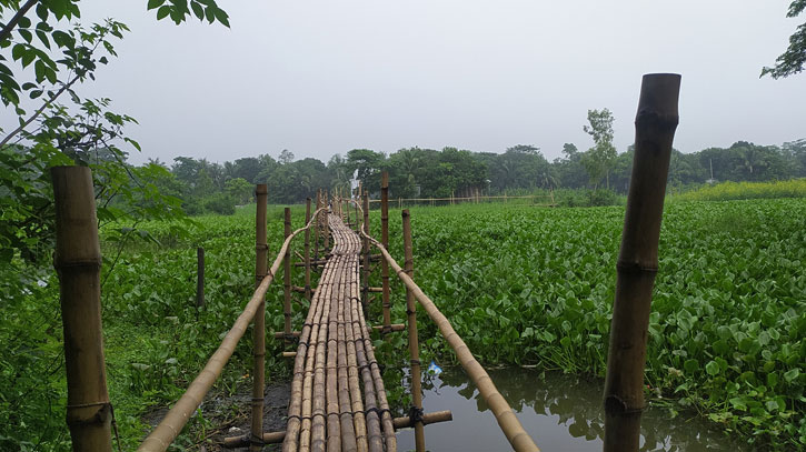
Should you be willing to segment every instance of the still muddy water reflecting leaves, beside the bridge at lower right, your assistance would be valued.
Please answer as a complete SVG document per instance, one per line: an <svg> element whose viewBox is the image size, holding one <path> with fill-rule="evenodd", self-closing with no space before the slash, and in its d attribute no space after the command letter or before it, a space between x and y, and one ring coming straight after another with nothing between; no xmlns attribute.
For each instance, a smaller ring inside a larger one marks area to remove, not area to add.
<svg viewBox="0 0 806 452"><path fill-rule="evenodd" d="M601 451L604 412L601 383L526 369L490 371L492 381L544 451ZM426 412L450 410L452 422L426 426L429 451L511 450L492 413L461 369L426 375ZM411 451L414 430L398 432L398 450ZM641 418L643 451L749 451L691 414L671 418L667 409L650 408Z"/></svg>

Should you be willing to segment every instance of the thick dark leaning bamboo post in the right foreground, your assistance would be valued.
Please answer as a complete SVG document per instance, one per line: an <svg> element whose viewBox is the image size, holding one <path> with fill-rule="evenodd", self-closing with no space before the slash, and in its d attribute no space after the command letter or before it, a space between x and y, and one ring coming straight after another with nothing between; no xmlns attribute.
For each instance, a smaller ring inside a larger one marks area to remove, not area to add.
<svg viewBox="0 0 806 452"><path fill-rule="evenodd" d="M679 74L644 76L635 119L633 175L616 264L605 381L606 452L637 451L639 446L647 329L679 91Z"/></svg>

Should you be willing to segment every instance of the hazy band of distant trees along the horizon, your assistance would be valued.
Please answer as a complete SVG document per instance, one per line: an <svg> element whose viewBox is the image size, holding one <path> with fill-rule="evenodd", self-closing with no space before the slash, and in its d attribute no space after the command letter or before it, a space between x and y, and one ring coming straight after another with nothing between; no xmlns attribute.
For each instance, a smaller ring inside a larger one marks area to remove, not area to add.
<svg viewBox="0 0 806 452"><path fill-rule="evenodd" d="M251 200L256 183L267 183L269 201L299 203L316 197L319 188L347 191L350 180L370 193L380 189L380 173L389 172L394 198L446 198L484 194L526 194L537 190L586 189L626 193L633 163L633 147L617 153L611 144L595 144L580 151L574 143L563 147L563 157L548 161L540 149L517 144L502 153L472 152L446 147L441 150L405 148L390 154L354 149L335 154L327 163L306 158L295 160L283 150L223 163L178 157L169 172L157 181L167 194L183 200L190 214L228 213ZM165 164L151 162L151 164ZM166 165L166 168L168 168ZM722 181L769 181L806 177L806 139L782 145L737 141L728 148L698 152L673 151L670 190L684 190Z"/></svg>

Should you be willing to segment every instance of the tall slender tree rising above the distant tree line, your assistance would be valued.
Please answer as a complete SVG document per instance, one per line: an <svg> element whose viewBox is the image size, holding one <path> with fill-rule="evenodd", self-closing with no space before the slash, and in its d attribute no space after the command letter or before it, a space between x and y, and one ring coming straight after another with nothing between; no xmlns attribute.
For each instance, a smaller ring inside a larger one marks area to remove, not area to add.
<svg viewBox="0 0 806 452"><path fill-rule="evenodd" d="M607 179L607 188L610 188L608 178L610 165L617 157L616 148L613 145L613 113L608 109L588 110L588 125L583 130L594 139L594 147L583 155L581 163L588 172L594 191Z"/></svg>

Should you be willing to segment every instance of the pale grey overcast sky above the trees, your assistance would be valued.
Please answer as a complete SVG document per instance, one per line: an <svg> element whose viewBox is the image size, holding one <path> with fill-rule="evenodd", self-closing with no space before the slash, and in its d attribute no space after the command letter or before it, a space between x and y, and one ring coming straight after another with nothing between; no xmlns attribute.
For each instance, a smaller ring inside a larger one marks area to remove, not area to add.
<svg viewBox="0 0 806 452"><path fill-rule="evenodd" d="M790 0L231 1L231 29L157 21L146 0L81 2L131 28L83 92L140 121L133 162L282 149L589 148L588 109L633 142L641 74L683 74L675 147L806 138L806 73L759 79L804 20Z"/></svg>

